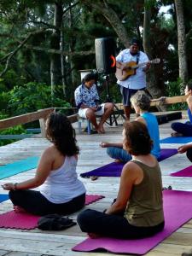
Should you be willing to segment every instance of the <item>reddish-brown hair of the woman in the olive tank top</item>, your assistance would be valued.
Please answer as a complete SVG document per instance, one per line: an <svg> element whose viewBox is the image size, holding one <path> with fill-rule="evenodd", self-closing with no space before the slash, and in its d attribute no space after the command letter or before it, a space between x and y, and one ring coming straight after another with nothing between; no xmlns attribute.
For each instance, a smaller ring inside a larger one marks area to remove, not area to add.
<svg viewBox="0 0 192 256"><path fill-rule="evenodd" d="M148 128L141 122L125 122L125 147L129 154L150 154L153 141L148 134Z"/></svg>

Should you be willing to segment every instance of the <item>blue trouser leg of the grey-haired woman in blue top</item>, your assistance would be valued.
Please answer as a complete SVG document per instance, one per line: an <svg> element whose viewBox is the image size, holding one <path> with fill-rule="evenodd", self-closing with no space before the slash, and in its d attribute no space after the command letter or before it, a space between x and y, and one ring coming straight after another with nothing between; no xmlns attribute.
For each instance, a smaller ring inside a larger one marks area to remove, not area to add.
<svg viewBox="0 0 192 256"><path fill-rule="evenodd" d="M123 148L108 147L107 153L111 158L121 160L122 162L128 162L132 159L131 154Z"/></svg>

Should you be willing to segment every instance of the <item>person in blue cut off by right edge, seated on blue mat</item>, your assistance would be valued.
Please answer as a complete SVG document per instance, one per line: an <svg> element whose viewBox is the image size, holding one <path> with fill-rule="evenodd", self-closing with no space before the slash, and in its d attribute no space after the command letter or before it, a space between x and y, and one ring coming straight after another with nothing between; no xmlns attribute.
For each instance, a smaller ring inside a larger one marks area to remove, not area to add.
<svg viewBox="0 0 192 256"><path fill-rule="evenodd" d="M184 94L187 96L186 102L188 104L188 116L189 121L186 123L174 122L171 127L172 130L175 131L172 133L173 137L177 136L185 136L192 137L192 81L190 81L184 90Z"/></svg>

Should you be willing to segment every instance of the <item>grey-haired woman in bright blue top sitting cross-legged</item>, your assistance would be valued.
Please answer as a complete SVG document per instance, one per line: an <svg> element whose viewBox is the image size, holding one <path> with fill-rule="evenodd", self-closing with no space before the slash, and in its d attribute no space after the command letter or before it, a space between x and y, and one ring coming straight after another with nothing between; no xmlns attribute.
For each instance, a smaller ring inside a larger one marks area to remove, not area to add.
<svg viewBox="0 0 192 256"><path fill-rule="evenodd" d="M143 90L138 90L137 93L131 97L131 103L136 113L140 113L140 116L137 117L136 120L143 123L148 128L148 133L154 143L151 154L158 159L160 157L160 131L156 117L153 113L148 112L150 98ZM101 146L102 148L107 148L108 155L116 161L127 162L132 159L131 154L123 148L123 142L101 143Z"/></svg>

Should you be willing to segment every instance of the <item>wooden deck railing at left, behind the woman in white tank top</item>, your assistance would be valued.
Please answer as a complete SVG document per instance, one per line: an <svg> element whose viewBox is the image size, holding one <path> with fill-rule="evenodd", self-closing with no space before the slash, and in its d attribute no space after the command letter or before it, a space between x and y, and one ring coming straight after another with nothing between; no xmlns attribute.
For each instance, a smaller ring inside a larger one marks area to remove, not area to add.
<svg viewBox="0 0 192 256"><path fill-rule="evenodd" d="M45 120L47 119L49 113L54 112L56 109L57 108L45 108L36 112L21 114L9 119L2 119L0 120L0 130L39 120L42 137L45 137ZM77 122L78 114L70 115L68 116L68 119L70 119L71 123Z"/></svg>

